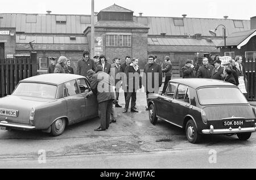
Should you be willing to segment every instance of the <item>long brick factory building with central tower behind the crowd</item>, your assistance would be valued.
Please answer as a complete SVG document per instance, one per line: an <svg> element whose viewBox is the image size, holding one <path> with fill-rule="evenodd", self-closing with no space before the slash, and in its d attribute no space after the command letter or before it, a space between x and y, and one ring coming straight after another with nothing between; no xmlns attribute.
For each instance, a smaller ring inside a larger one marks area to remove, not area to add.
<svg viewBox="0 0 256 180"><path fill-rule="evenodd" d="M213 37L209 29L226 26L226 36L250 30L250 20L135 16L118 5L95 15L96 54L105 54L112 63L114 57L124 61L126 55L138 57L139 66L146 64L147 55L157 56L159 63L169 55L174 71L196 54L219 54L216 46L223 41L221 28ZM35 50L38 72L46 72L49 58L65 55L75 67L84 49L90 50L90 15L0 14L0 58ZM93 56L92 54L90 55Z"/></svg>

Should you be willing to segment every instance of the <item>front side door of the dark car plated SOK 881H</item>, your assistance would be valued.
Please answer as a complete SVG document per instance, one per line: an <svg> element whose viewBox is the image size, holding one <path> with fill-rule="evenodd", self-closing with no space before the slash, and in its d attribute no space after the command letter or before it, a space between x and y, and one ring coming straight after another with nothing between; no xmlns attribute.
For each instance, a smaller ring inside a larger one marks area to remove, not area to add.
<svg viewBox="0 0 256 180"><path fill-rule="evenodd" d="M160 96L159 105L158 105L158 115L160 118L167 121L173 121L173 100L176 91L177 84L169 83L167 91L164 95Z"/></svg>

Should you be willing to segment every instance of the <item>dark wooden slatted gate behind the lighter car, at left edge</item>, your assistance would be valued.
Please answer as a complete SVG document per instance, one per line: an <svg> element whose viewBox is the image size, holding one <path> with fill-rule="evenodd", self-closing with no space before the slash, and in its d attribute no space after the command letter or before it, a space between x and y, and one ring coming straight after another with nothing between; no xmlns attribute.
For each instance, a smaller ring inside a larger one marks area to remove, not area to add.
<svg viewBox="0 0 256 180"><path fill-rule="evenodd" d="M0 59L0 97L10 95L20 80L36 75L36 53Z"/></svg>

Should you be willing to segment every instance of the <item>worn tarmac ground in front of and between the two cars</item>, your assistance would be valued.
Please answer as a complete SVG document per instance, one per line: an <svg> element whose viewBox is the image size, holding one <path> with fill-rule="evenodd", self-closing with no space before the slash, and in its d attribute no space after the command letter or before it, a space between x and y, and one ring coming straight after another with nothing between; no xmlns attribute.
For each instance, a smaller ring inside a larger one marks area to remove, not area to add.
<svg viewBox="0 0 256 180"><path fill-rule="evenodd" d="M179 127L165 121L151 125L145 97L137 94L139 113L117 108L117 123L106 131L94 131L99 118L69 126L57 137L0 131L0 168L256 168L255 133L245 142L207 135L191 144ZM124 106L122 93L119 104ZM39 164L39 150L46 152L46 164Z"/></svg>

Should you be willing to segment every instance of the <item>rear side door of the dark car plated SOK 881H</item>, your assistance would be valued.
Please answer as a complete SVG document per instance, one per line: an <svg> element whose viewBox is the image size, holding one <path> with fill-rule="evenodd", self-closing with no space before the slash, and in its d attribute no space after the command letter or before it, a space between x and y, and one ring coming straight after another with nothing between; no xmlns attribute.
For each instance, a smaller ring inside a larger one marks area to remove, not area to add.
<svg viewBox="0 0 256 180"><path fill-rule="evenodd" d="M179 84L174 98L174 121L178 126L183 126L183 119L188 114L190 106L189 88L187 85Z"/></svg>

